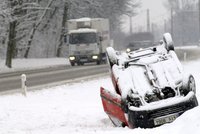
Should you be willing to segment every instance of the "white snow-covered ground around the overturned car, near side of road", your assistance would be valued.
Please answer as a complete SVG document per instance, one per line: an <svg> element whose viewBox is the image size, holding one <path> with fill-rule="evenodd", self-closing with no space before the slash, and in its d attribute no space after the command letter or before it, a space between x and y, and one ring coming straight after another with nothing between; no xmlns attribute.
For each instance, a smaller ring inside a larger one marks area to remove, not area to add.
<svg viewBox="0 0 200 134"><path fill-rule="evenodd" d="M200 60L183 63L194 74L200 100ZM153 129L116 128L103 111L100 86L112 88L109 76L49 89L0 96L1 134L199 134L200 107L173 123Z"/></svg>

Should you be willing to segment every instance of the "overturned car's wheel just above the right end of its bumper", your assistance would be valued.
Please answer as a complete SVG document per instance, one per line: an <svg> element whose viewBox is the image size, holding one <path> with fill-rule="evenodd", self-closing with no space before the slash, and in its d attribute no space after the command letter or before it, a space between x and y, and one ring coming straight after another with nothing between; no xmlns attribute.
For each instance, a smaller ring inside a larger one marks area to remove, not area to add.
<svg viewBox="0 0 200 134"><path fill-rule="evenodd" d="M182 92L187 95L190 91L196 93L196 84L194 77L190 74L183 78Z"/></svg>

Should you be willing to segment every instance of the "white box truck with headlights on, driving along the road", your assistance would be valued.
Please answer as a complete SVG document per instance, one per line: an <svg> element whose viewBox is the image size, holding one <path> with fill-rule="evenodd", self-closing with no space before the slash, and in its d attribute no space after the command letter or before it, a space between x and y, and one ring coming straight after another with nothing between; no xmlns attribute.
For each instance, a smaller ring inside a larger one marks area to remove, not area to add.
<svg viewBox="0 0 200 134"><path fill-rule="evenodd" d="M66 42L72 66L106 62L106 48L110 46L109 20L80 18L67 21Z"/></svg>

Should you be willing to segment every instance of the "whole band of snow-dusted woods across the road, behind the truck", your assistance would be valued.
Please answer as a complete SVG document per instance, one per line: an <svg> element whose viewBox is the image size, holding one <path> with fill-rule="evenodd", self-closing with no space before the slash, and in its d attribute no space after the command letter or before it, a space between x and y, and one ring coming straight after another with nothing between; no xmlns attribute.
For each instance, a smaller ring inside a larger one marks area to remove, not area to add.
<svg viewBox="0 0 200 134"><path fill-rule="evenodd" d="M136 0L1 0L0 56L12 67L13 58L66 56L63 35L68 19L109 18L111 35L120 16L134 14Z"/></svg>

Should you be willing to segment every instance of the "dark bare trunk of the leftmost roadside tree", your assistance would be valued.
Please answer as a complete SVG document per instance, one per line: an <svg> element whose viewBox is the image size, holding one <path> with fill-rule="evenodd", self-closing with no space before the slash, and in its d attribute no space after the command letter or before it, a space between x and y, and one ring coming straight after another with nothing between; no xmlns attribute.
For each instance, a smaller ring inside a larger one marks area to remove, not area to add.
<svg viewBox="0 0 200 134"><path fill-rule="evenodd" d="M15 36L16 36L16 22L12 21L9 23L9 37L8 37L8 46L7 46L7 53L6 53L6 66L12 68L12 58L14 57L14 50L15 50Z"/></svg>

